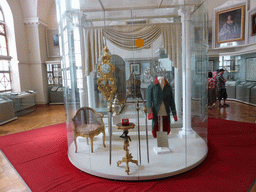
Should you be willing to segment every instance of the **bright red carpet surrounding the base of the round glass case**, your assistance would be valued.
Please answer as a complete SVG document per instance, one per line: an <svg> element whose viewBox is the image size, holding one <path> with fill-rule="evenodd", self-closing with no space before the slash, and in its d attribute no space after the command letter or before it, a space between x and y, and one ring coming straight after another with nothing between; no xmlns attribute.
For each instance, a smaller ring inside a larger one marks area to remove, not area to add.
<svg viewBox="0 0 256 192"><path fill-rule="evenodd" d="M155 181L113 181L80 172L67 157L65 124L2 136L0 149L32 192L246 192L256 177L256 125L208 122L205 161L189 172Z"/></svg>

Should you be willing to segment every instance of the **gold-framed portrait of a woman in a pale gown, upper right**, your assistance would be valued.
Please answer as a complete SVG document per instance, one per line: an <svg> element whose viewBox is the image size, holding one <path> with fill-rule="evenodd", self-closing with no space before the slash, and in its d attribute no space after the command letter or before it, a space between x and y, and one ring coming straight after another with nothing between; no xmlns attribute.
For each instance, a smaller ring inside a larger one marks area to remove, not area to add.
<svg viewBox="0 0 256 192"><path fill-rule="evenodd" d="M245 6L216 12L216 43L244 40Z"/></svg>

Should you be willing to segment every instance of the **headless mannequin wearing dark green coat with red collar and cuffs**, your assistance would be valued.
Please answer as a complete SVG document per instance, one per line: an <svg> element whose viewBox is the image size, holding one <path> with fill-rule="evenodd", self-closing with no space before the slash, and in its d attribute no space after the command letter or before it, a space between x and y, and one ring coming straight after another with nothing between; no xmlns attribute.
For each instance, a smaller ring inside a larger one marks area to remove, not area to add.
<svg viewBox="0 0 256 192"><path fill-rule="evenodd" d="M152 135L157 137L157 132L170 133L170 109L174 120L177 121L176 108L172 87L168 81L159 76L151 83L147 89L147 108L148 113L153 113Z"/></svg>

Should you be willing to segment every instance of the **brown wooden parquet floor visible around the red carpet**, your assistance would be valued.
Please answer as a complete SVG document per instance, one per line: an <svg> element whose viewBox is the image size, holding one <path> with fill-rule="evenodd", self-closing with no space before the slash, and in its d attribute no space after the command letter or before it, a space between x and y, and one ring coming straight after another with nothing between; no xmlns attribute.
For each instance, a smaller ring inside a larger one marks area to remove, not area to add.
<svg viewBox="0 0 256 192"><path fill-rule="evenodd" d="M229 107L215 106L208 109L209 118L234 120L248 123L256 121L256 107L236 101L227 101ZM36 111L18 117L17 120L0 126L0 136L28 131L65 122L64 105L38 105ZM0 152L0 192L29 191L26 184ZM251 191L250 191L251 192Z"/></svg>

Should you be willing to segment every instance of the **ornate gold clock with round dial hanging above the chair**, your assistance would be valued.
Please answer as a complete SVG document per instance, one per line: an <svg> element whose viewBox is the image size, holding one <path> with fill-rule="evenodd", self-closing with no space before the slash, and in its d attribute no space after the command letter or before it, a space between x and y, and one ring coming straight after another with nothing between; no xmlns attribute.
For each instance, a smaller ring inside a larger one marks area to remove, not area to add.
<svg viewBox="0 0 256 192"><path fill-rule="evenodd" d="M98 65L97 70L100 73L100 78L97 80L98 89L102 95L106 98L107 102L113 98L116 92L116 80L113 77L115 71L115 65L110 63L111 56L108 54L108 48L104 47L104 55L102 57L102 63Z"/></svg>

